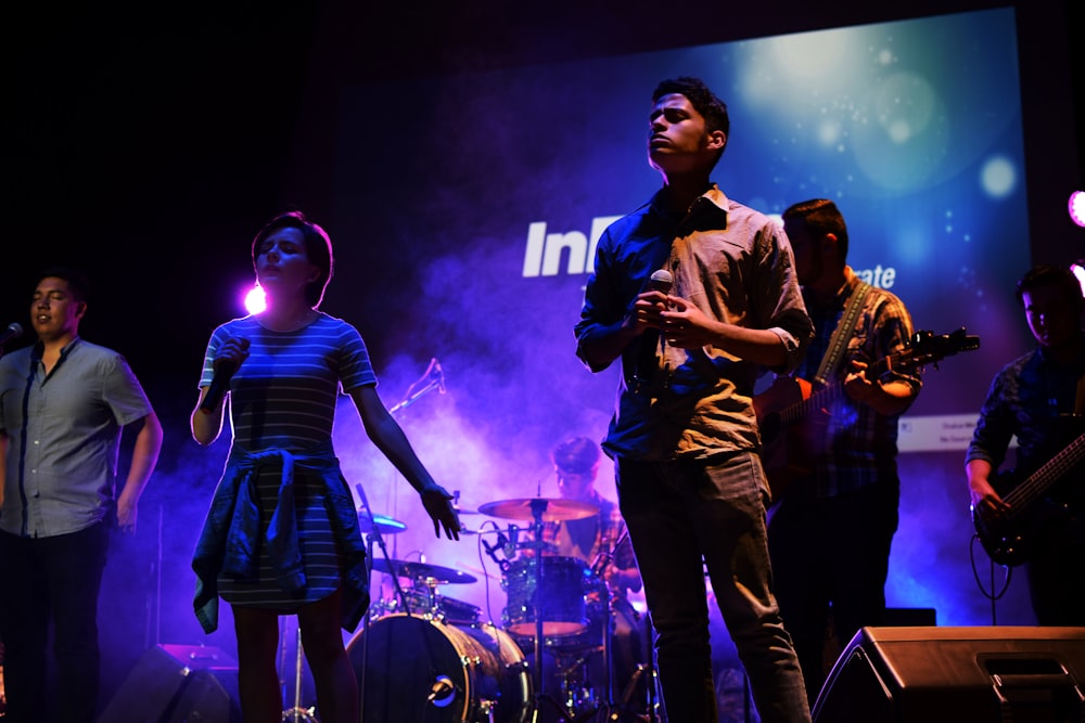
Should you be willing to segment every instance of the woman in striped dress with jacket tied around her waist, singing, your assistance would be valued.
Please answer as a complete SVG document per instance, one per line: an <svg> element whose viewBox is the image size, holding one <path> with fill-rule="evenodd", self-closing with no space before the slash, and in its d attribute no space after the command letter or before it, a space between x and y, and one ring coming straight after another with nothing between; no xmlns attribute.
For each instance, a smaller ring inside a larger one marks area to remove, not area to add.
<svg viewBox="0 0 1085 723"><path fill-rule="evenodd" d="M369 437L420 494L434 533L459 539L451 495L414 454L376 393L357 330L317 310L332 275L327 233L301 212L276 217L253 241L267 309L222 324L207 344L192 436L215 441L229 396L233 439L193 555L196 617L233 609L239 696L246 723L278 723L279 616L296 615L322 723L356 723L358 690L340 628L369 604L354 496L332 449L340 389Z"/></svg>

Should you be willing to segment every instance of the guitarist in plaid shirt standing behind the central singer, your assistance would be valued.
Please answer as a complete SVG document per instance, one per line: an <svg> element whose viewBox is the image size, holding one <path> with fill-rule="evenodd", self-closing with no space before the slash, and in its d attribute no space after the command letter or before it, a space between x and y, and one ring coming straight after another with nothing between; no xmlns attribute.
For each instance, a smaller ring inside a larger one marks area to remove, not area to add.
<svg viewBox="0 0 1085 723"><path fill-rule="evenodd" d="M814 340L795 376L814 383L852 296L866 286L846 264L847 227L824 198L783 212ZM858 317L843 328L846 346L827 384L842 385L829 409L804 423L819 429L804 475L773 511L769 554L780 616L794 638L810 707L825 681L825 638L832 616L837 642L882 624L890 546L897 528L901 480L897 419L919 395L918 371L867 378L865 371L904 349L912 335L904 304L867 287ZM771 477L770 477L771 481Z"/></svg>

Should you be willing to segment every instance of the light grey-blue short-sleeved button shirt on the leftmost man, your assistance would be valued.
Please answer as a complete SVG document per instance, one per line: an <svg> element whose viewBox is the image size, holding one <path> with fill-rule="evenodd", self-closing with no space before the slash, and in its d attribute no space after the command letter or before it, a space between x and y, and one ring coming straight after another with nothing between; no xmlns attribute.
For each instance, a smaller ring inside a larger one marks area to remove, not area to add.
<svg viewBox="0 0 1085 723"><path fill-rule="evenodd" d="M46 374L42 347L0 359L0 428L8 436L0 529L77 532L113 506L123 428L151 402L116 351L76 338Z"/></svg>

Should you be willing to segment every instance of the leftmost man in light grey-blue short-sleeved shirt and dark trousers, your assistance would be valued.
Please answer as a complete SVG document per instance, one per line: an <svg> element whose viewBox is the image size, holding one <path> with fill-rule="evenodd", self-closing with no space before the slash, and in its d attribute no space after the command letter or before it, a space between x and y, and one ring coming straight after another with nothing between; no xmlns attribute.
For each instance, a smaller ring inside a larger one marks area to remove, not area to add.
<svg viewBox="0 0 1085 723"><path fill-rule="evenodd" d="M94 720L98 597L110 530L135 532L139 498L162 449L162 425L125 359L79 337L87 288L74 269L44 271L30 302L37 344L0 359L0 634L12 723ZM129 426L138 432L118 493Z"/></svg>

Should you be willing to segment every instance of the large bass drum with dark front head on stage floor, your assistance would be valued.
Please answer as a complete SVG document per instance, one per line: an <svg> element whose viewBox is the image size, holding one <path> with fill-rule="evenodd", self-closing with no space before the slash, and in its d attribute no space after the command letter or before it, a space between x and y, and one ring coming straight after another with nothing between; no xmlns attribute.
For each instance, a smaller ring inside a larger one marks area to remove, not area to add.
<svg viewBox="0 0 1085 723"><path fill-rule="evenodd" d="M531 713L524 654L494 625L390 615L355 635L347 656L362 723L525 723Z"/></svg>

